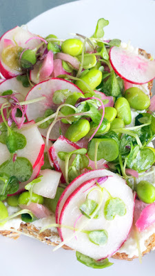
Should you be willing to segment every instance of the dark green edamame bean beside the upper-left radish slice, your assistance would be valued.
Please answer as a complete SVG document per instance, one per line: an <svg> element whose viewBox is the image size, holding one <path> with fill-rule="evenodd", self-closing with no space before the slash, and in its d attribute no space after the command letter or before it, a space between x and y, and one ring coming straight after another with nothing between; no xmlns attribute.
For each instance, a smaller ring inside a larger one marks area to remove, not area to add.
<svg viewBox="0 0 155 276"><path fill-rule="evenodd" d="M25 50L21 56L21 66L25 69L33 66L37 61L36 53L33 50Z"/></svg>

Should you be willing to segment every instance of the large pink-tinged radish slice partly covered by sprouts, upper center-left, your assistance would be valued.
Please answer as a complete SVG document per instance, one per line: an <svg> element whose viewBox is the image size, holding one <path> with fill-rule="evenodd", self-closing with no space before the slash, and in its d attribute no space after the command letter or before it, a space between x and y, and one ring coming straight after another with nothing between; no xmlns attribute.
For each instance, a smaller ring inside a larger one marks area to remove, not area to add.
<svg viewBox="0 0 155 276"><path fill-rule="evenodd" d="M32 103L28 105L28 108L26 110L28 121L31 121L32 119L34 119L35 121L38 117L42 117L45 113L45 110L47 110L48 108L52 108L52 110L56 111L58 105L53 103L53 94L56 90L65 89L68 89L71 92L81 92L81 90L77 86L75 86L74 83L66 81L65 79L49 79L48 81L43 81L37 84L37 86L34 86L28 93L25 101L37 99L39 97L45 97L45 99L43 99L42 101L38 101L37 103ZM52 140L56 140L60 135L59 128L57 126L50 133L50 139ZM61 124L61 130L63 134L65 134L67 128L68 126L65 126L65 124ZM63 131L63 129L65 130ZM43 135L43 137L46 137L47 130L48 128L39 128L39 131L41 132L41 135Z"/></svg>

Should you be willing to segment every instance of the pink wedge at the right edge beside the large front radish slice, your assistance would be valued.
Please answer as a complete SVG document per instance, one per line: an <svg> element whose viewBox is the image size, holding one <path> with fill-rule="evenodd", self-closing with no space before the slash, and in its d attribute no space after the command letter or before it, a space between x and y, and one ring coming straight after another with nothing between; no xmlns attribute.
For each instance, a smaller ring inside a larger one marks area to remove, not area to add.
<svg viewBox="0 0 155 276"><path fill-rule="evenodd" d="M155 223L155 203L152 203L146 206L142 210L140 217L136 221L136 227L138 228L138 231L141 232L154 223Z"/></svg>

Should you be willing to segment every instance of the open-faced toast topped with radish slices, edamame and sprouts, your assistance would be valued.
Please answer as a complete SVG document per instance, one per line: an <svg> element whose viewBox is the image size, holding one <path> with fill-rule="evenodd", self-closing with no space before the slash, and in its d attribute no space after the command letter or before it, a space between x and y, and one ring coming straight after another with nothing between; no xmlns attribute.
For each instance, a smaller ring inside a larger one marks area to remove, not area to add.
<svg viewBox="0 0 155 276"><path fill-rule="evenodd" d="M76 250L92 268L155 247L155 61L92 37L0 40L0 234Z"/></svg>

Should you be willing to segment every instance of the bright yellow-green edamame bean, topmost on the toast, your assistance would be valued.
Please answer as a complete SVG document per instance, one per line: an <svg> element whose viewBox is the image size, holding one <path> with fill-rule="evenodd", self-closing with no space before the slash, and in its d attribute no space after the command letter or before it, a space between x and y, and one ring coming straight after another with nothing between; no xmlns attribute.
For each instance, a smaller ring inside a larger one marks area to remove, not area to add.
<svg viewBox="0 0 155 276"><path fill-rule="evenodd" d="M61 45L61 50L73 57L79 56L83 50L83 42L80 39L66 39Z"/></svg>

